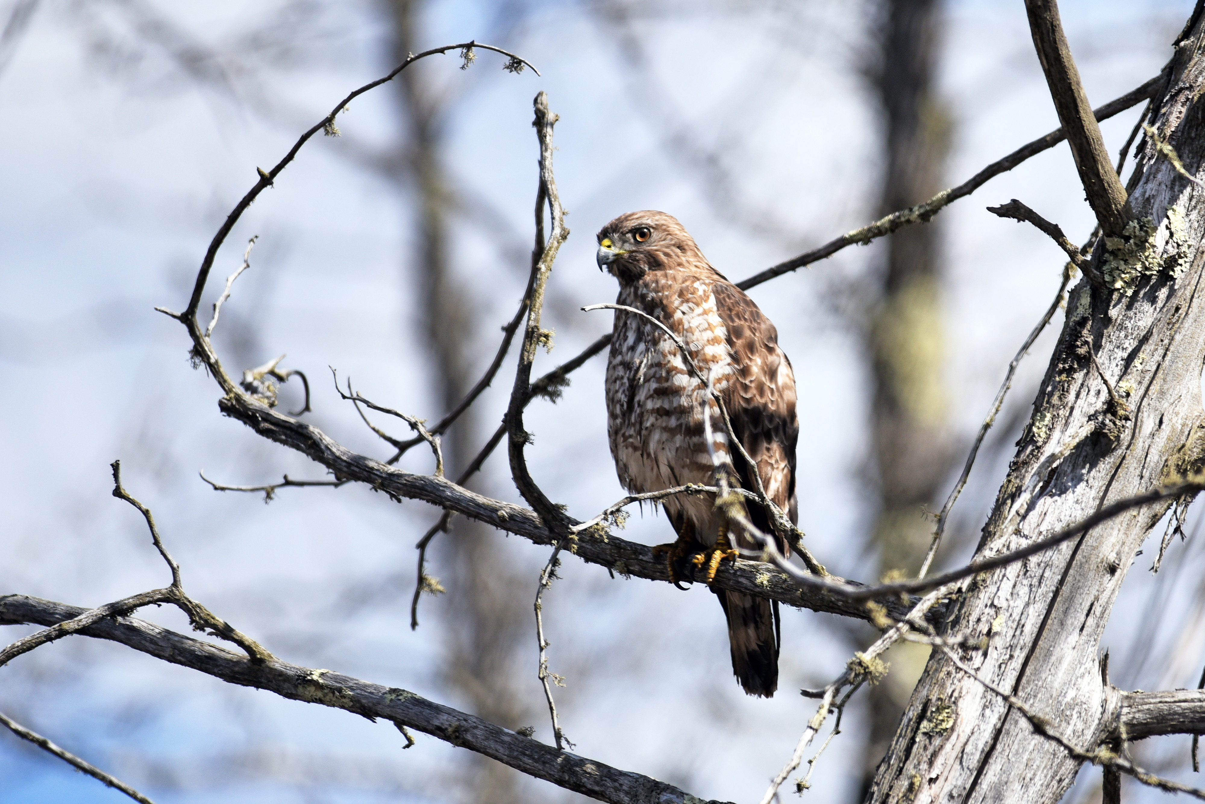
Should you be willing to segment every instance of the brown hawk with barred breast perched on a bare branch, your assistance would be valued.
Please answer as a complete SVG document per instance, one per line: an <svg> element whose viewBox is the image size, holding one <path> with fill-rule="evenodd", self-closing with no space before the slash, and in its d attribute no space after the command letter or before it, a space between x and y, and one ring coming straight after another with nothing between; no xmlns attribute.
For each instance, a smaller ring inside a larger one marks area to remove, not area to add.
<svg viewBox="0 0 1205 804"><path fill-rule="evenodd" d="M616 302L642 311L675 332L699 373L723 401L733 432L757 463L765 493L798 521L795 503L795 377L778 332L753 300L711 267L690 235L664 212L629 212L598 233L598 264L619 280ZM751 467L729 445L723 415L681 350L648 319L616 311L606 370L607 436L619 483L645 493L688 483L754 490ZM710 416L710 421L706 418ZM711 431L709 449L706 431ZM715 506L715 495L676 495L662 507L677 540L666 554L678 580L710 584L722 560L762 554L763 546ZM762 506L747 519L789 555ZM736 549L734 549L734 546ZM680 586L681 589L681 586ZM728 617L733 673L745 692L771 697L778 685L778 604L712 589Z"/></svg>

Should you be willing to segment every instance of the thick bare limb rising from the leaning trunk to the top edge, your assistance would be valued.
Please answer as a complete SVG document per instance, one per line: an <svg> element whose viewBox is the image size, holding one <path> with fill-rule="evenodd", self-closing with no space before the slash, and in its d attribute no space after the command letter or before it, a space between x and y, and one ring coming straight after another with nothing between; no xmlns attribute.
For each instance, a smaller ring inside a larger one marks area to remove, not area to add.
<svg viewBox="0 0 1205 804"><path fill-rule="evenodd" d="M1063 22L1059 19L1057 0L1025 0L1029 31L1034 37L1034 49L1041 61L1046 83L1054 100L1058 120L1068 132L1068 144L1080 181L1088 196L1092 211L1097 213L1100 229L1110 237L1119 237L1130 214L1125 207L1125 188L1113 170L1105 138L1088 105L1080 72L1071 58Z"/></svg>

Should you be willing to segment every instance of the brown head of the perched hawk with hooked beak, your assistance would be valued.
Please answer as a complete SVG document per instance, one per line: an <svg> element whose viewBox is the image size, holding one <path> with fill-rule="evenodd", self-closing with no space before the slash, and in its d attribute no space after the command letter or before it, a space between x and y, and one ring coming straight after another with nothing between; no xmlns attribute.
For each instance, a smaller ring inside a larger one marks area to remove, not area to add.
<svg viewBox="0 0 1205 804"><path fill-rule="evenodd" d="M599 270L606 268L621 283L670 266L711 267L677 218L654 209L619 215L599 231L598 240Z"/></svg>

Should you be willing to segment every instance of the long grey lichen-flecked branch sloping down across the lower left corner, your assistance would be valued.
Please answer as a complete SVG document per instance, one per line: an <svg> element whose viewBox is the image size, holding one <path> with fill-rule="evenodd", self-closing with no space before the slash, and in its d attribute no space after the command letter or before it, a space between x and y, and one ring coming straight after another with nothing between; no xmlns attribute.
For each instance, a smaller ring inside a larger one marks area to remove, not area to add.
<svg viewBox="0 0 1205 804"><path fill-rule="evenodd" d="M24 595L0 597L0 625L53 626L86 609ZM293 700L377 717L476 751L536 779L613 804L704 804L672 785L596 759L588 759L522 737L474 715L398 687L362 681L341 673L271 660L247 661L218 645L186 637L133 617L106 617L81 633L120 643L172 664L229 684L268 690ZM709 802L706 804L719 804Z"/></svg>

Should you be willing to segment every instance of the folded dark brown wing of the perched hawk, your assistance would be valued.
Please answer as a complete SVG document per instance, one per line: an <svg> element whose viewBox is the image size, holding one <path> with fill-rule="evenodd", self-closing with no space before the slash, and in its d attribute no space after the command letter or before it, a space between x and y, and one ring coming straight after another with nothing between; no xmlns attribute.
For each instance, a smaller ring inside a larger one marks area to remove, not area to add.
<svg viewBox="0 0 1205 804"><path fill-rule="evenodd" d="M795 447L799 418L790 361L778 348L778 331L745 291L728 282L717 282L712 292L728 330L736 370L733 382L721 395L733 420L733 431L757 461L766 496L798 522ZM756 489L745 461L734 455L733 462L741 475L741 485ZM750 506L748 509L757 527L768 533L772 531L760 507ZM787 554L786 540L778 536L780 548Z"/></svg>

